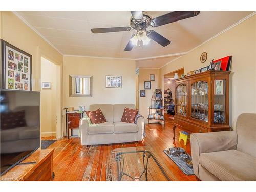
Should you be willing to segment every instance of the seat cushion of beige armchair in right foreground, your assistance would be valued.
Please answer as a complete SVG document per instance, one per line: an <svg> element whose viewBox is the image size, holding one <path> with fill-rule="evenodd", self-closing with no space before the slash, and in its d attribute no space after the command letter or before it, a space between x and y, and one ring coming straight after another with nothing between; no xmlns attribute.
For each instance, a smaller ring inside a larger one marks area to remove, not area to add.
<svg viewBox="0 0 256 192"><path fill-rule="evenodd" d="M256 158L237 150L202 153L199 163L222 181L256 179Z"/></svg>

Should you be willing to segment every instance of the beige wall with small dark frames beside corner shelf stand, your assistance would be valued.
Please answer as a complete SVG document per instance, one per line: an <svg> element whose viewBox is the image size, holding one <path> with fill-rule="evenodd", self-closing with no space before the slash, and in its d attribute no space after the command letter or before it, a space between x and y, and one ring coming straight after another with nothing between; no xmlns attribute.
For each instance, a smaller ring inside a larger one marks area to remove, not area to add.
<svg viewBox="0 0 256 192"><path fill-rule="evenodd" d="M151 97L154 95L156 88L159 88L159 69L143 69L139 72L139 90L144 89L144 81L150 81L150 74L155 74L155 81L151 81L151 89L146 90L146 97L139 97L140 114L144 116L147 123L148 107L151 105Z"/></svg>

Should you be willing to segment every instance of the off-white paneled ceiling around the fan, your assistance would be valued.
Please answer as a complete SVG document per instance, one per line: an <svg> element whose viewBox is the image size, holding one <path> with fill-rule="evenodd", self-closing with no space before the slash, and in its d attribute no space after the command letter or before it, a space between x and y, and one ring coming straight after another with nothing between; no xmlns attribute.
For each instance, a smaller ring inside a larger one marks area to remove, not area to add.
<svg viewBox="0 0 256 192"><path fill-rule="evenodd" d="M152 18L168 12L147 11ZM132 51L124 48L136 33L94 34L91 28L130 26L129 11L23 11L16 12L64 55L138 59L187 52L239 20L250 11L201 11L196 17L154 28L171 43L162 47L154 41ZM147 28L153 29L152 27ZM163 66L177 56L137 61L137 67Z"/></svg>

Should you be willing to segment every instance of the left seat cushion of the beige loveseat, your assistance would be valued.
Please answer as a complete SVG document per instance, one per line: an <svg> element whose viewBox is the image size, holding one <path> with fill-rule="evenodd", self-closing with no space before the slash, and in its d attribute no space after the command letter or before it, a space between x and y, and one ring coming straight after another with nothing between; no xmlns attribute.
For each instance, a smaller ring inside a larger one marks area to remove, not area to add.
<svg viewBox="0 0 256 192"><path fill-rule="evenodd" d="M88 134L114 133L114 123L105 122L97 125L88 126Z"/></svg>

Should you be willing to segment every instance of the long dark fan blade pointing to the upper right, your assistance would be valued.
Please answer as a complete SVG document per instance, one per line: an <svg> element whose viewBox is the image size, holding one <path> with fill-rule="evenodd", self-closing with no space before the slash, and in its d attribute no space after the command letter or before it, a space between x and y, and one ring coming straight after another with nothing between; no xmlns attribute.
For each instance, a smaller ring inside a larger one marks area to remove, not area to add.
<svg viewBox="0 0 256 192"><path fill-rule="evenodd" d="M200 11L174 11L167 13L165 15L153 18L151 20L150 25L152 27L157 27L173 22L177 22L178 20L182 20L189 17L194 17L199 15Z"/></svg>

